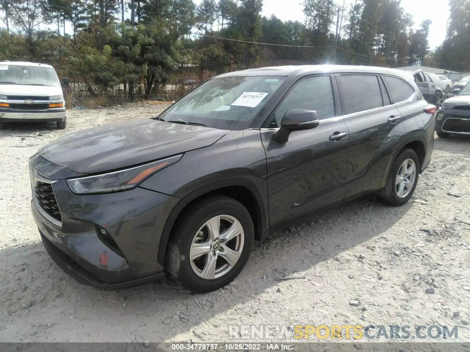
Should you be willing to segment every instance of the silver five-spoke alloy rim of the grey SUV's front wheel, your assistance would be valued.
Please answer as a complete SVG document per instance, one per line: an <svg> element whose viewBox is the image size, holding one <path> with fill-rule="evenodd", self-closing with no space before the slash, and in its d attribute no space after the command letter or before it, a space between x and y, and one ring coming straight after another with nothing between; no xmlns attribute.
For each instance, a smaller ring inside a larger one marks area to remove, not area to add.
<svg viewBox="0 0 470 352"><path fill-rule="evenodd" d="M191 268L206 280L226 275L243 251L242 224L230 215L217 215L197 231L189 249Z"/></svg>

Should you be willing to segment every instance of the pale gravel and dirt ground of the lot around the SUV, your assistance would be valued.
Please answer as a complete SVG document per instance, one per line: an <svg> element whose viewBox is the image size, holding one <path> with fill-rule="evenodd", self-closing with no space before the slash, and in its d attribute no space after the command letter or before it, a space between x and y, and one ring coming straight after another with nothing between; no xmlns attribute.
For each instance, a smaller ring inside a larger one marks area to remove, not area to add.
<svg viewBox="0 0 470 352"><path fill-rule="evenodd" d="M0 341L200 343L227 341L229 324L249 323L458 325L458 341L470 341L470 138L437 138L404 207L365 197L299 223L257 244L226 290L194 295L160 282L113 292L76 283L39 242L28 158L63 134L161 110L71 110L66 130L0 131Z"/></svg>

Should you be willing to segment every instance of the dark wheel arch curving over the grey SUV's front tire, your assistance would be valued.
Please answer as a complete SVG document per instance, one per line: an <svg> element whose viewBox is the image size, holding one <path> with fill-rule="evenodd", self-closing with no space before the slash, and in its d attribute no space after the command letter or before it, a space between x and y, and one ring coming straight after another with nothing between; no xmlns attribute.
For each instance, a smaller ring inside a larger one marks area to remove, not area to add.
<svg viewBox="0 0 470 352"><path fill-rule="evenodd" d="M260 240L269 233L265 201L256 186L249 180L243 178L217 181L190 192L172 209L164 225L162 236L160 237L157 256L159 264L164 266L165 255L171 238L172 229L180 214L189 205L200 201L210 194L223 194L242 203L243 206L247 208L253 219L256 240Z"/></svg>

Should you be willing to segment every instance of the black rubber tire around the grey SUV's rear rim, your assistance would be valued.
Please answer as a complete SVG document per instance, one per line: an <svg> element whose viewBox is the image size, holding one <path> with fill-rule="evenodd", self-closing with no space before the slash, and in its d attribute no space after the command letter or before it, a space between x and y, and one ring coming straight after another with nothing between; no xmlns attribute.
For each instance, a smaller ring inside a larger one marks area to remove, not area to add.
<svg viewBox="0 0 470 352"><path fill-rule="evenodd" d="M400 197L397 192L397 186L400 187L400 185L396 183L396 180L399 176L399 171L401 171L400 169L402 167L402 164L407 160L412 160L415 163L415 177L414 182L411 186L411 190L404 188L408 193L406 194L406 196L405 194L402 194L404 197ZM401 153L399 153L399 155L395 159L392 169L390 170L390 174L387 177L387 185L379 191L378 198L384 204L391 207L400 207L406 204L415 192L416 184L418 184L419 170L420 164L416 152L413 149L404 149Z"/></svg>

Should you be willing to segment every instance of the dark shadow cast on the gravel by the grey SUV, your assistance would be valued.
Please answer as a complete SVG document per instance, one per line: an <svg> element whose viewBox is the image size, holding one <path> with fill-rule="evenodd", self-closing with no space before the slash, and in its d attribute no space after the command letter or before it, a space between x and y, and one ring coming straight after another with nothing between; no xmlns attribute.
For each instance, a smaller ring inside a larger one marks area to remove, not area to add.
<svg viewBox="0 0 470 352"><path fill-rule="evenodd" d="M380 235L399 222L414 204L390 208L377 203L374 197L363 197L312 217L257 243L250 261L234 284L223 293L216 291L207 295L189 293L165 280L118 292L99 291L64 274L41 243L8 247L0 250L0 311L8 312L8 319L16 321L16 324L26 323L37 316L42 316L40 321L57 321L52 327L44 325L38 328L40 325L37 325L35 335L26 337L29 341L45 341L47 336L49 339L46 341L61 341L61 331L78 331L84 325L98 323L96 326L112 324L115 328L107 329L110 330L109 336L102 336L91 328L87 331L88 336L92 333L91 338L95 341L148 339L159 342L191 332L197 324L234 306L243 307L244 302L256 299L262 292L274 293L279 279L286 274L308 271L308 280L314 281L317 275L315 266L331 258L336 260L334 265L341 279L348 280L348 263L359 258L342 255L342 252L360 246L372 237L377 237L377 246L381 241L388 241ZM399 227L396 230L405 231ZM374 248L363 246L357 254L367 254ZM300 279L305 280L305 277ZM317 289L322 290L321 287ZM279 297L276 302L282 305ZM176 312L181 315L176 316ZM251 321L256 319L256 315L253 318L248 318L248 315L237 317L238 323L247 322L244 319ZM119 331L117 326L121 326L118 337L112 335L113 329ZM191 337L202 342L204 335L201 334L204 331L193 330Z"/></svg>

